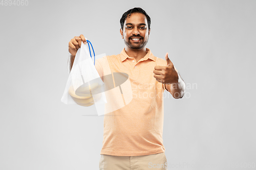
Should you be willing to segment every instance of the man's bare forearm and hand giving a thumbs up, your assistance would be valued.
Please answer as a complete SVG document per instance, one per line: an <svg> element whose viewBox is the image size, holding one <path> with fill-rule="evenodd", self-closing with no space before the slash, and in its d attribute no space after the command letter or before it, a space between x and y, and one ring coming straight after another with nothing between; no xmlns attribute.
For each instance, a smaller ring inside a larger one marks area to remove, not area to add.
<svg viewBox="0 0 256 170"><path fill-rule="evenodd" d="M154 78L160 83L163 83L166 90L169 91L175 99L180 99L185 93L185 82L180 77L174 64L168 58L168 53L165 55L167 62L166 66L155 66Z"/></svg>

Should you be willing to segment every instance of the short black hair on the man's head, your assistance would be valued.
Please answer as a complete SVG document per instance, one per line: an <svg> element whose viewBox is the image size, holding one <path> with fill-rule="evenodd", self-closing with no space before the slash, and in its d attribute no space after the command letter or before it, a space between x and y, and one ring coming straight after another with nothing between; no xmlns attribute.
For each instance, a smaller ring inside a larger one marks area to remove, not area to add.
<svg viewBox="0 0 256 170"><path fill-rule="evenodd" d="M125 19L131 16L131 14L133 13L141 13L144 14L146 16L146 20L147 20L147 25L148 25L148 30L150 29L150 25L151 25L151 19L150 16L147 15L147 13L140 7L135 7L133 9L130 9L126 12L123 13L121 19L120 19L120 25L121 25L121 29L123 30L123 25L124 25L124 21Z"/></svg>

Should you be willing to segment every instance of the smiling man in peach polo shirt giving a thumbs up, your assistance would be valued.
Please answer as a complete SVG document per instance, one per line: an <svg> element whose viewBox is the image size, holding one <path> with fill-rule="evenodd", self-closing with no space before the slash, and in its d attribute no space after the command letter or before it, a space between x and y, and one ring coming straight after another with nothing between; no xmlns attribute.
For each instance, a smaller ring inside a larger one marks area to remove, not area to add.
<svg viewBox="0 0 256 170"><path fill-rule="evenodd" d="M185 83L167 53L165 61L146 48L151 19L143 9L133 8L125 12L120 25L124 49L119 55L98 59L95 67L101 77L109 69L106 63L111 72L129 75L133 99L111 112L112 116L104 116L100 169L167 169L162 140L162 94L166 89L175 99L180 99L185 92ZM69 42L69 70L82 42L86 43L83 35Z"/></svg>

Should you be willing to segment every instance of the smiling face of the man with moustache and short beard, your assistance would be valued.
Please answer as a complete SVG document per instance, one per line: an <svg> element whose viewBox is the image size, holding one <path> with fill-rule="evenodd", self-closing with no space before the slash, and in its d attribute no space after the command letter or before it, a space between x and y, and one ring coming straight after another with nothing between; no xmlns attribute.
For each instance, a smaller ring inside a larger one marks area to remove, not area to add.
<svg viewBox="0 0 256 170"><path fill-rule="evenodd" d="M127 47L133 50L141 50L148 41L150 30L148 30L146 16L141 13L132 13L125 19L123 30L120 33Z"/></svg>

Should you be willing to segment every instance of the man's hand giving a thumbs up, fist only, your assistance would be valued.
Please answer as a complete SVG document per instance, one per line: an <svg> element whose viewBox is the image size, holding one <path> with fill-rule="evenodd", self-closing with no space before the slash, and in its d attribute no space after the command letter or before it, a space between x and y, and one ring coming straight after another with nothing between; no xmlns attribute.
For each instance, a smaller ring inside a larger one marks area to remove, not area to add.
<svg viewBox="0 0 256 170"><path fill-rule="evenodd" d="M174 68L174 64L168 58L168 53L165 54L166 66L155 66L154 78L163 84L178 83L178 72Z"/></svg>

